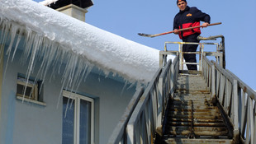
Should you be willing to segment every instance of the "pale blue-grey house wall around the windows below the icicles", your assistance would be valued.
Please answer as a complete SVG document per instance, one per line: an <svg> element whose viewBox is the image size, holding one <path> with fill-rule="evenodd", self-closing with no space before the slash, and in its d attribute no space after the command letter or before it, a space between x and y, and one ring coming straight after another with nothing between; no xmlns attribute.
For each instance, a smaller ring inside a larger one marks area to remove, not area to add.
<svg viewBox="0 0 256 144"><path fill-rule="evenodd" d="M62 97L59 100L61 76L55 75L44 83L46 106L35 105L16 99L17 74L26 74L27 66L20 63L21 50L12 63L8 63L2 82L2 103L0 118L0 143L8 144L60 144L62 140ZM4 67L7 57L5 56ZM36 65L38 69L40 65ZM51 71L50 71L51 72ZM50 73L49 72L49 73ZM36 71L32 77L36 77ZM4 74L4 73L2 73ZM124 89L124 83L91 73L78 89L78 93L95 100L95 142L104 144L111 136L123 114L135 87Z"/></svg>

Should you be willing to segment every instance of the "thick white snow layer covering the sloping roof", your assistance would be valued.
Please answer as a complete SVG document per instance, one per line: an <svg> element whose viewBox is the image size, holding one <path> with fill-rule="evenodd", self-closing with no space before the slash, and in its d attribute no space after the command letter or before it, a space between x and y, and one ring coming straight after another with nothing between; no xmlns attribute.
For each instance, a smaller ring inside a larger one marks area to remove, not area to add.
<svg viewBox="0 0 256 144"><path fill-rule="evenodd" d="M104 72L149 82L159 68L159 50L114 35L31 0L0 1L0 17L55 41Z"/></svg>

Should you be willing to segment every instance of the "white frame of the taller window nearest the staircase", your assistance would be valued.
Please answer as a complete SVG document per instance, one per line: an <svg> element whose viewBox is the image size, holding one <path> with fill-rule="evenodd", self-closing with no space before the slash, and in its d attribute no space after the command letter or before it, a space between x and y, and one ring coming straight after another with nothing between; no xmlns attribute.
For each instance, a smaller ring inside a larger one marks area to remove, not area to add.
<svg viewBox="0 0 256 144"><path fill-rule="evenodd" d="M73 128L73 143L79 144L79 127L80 127L80 100L91 102L91 144L94 143L94 100L85 95L79 95L70 91L63 91L62 95L70 100L74 100L74 128ZM72 105L73 105L72 104ZM62 115L63 116L63 115Z"/></svg>

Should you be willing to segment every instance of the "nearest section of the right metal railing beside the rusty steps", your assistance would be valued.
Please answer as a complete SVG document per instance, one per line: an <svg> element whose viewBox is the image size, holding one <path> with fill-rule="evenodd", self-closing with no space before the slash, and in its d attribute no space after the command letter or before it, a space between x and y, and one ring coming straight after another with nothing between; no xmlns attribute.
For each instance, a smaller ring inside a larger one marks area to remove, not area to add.
<svg viewBox="0 0 256 144"><path fill-rule="evenodd" d="M235 110L232 121L235 128L239 128L239 138L244 143L254 144L256 142L256 92L247 86L243 81L235 76L234 73L226 72L235 81L235 98L237 103L233 104ZM245 132L246 131L246 132Z"/></svg>

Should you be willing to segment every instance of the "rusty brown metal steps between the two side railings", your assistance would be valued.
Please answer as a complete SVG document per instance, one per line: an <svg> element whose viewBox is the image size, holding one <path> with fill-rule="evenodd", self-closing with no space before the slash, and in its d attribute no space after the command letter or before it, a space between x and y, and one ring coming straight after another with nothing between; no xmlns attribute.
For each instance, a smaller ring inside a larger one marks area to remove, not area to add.
<svg viewBox="0 0 256 144"><path fill-rule="evenodd" d="M220 109L201 74L179 73L173 99L166 114L162 143L232 143Z"/></svg>

